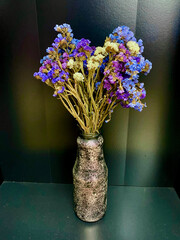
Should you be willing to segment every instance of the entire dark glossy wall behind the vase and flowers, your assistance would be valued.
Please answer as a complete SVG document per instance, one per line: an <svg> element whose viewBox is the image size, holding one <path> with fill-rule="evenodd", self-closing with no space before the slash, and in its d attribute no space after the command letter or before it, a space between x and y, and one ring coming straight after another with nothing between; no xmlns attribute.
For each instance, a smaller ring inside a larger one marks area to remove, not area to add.
<svg viewBox="0 0 180 240"><path fill-rule="evenodd" d="M1 181L72 183L76 122L52 89L33 78L56 24L103 45L127 25L153 63L145 82L148 107L119 107L104 124L110 185L174 186L179 179L179 0L1 0Z"/></svg>

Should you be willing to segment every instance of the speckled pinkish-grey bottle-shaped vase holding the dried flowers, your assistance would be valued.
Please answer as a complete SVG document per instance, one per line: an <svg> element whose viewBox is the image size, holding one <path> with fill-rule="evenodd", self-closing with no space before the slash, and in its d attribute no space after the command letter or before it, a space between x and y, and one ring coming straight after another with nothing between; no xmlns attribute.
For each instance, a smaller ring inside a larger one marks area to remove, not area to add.
<svg viewBox="0 0 180 240"><path fill-rule="evenodd" d="M107 206L108 169L103 154L103 137L77 138L73 167L74 211L85 222L100 220Z"/></svg>

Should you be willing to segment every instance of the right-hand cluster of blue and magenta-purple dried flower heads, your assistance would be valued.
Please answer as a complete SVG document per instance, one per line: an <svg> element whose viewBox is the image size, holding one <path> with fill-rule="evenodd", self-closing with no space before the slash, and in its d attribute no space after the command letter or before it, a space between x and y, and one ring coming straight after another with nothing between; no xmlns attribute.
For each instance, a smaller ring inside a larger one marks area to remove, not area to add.
<svg viewBox="0 0 180 240"><path fill-rule="evenodd" d="M123 107L142 111L146 104L141 99L145 98L146 91L144 84L138 81L139 73L147 75L152 68L152 63L141 54L144 50L142 40L137 41L126 26L116 28L107 40L119 43L119 52L113 55L110 64L104 69L104 89L109 93L108 102L117 98ZM138 52L128 49L128 42Z"/></svg>

